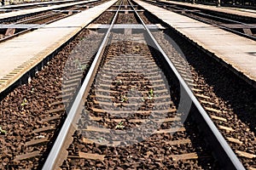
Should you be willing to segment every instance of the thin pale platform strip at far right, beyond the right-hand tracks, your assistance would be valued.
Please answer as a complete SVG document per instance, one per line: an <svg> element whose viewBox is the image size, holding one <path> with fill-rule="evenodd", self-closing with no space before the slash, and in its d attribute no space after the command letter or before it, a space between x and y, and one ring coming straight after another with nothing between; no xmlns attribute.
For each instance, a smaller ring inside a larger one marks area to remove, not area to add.
<svg viewBox="0 0 256 170"><path fill-rule="evenodd" d="M170 4L172 3L172 4L177 4L177 5L184 5L187 7L212 10L212 11L226 13L226 14L236 14L236 15L240 15L240 16L256 18L256 11L253 9L217 7L217 6L203 5L203 4L198 4L198 3L192 4L192 3L182 3L182 2L166 1L166 0L159 0L158 2L170 3Z"/></svg>

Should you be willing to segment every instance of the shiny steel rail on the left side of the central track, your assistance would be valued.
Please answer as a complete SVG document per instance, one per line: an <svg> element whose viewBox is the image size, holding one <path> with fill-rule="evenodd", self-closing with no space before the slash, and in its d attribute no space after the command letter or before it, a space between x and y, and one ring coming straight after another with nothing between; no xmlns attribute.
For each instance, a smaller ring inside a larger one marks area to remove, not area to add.
<svg viewBox="0 0 256 170"><path fill-rule="evenodd" d="M122 4L122 3L120 3L120 4ZM65 145L65 142L67 139L67 134L73 126L73 122L75 121L75 117L77 116L76 114L78 113L78 111L80 111L82 105L84 105L84 103L83 103L84 96L86 96L88 94L90 85L93 81L93 78L96 75L97 66L100 64L102 54L104 52L105 47L108 44L108 38L110 37L110 31L112 30L113 24L114 24L115 20L117 19L117 16L119 14L119 9L120 9L120 5L119 5L118 10L116 11L116 14L113 16L111 25L109 26L108 31L105 34L105 37L102 41L102 44L101 44L100 48L98 49L96 57L90 66L90 70L88 71L88 73L84 79L82 87L79 89L79 93L77 94L77 96L73 102L73 105L67 114L67 118L66 118L63 126L61 127L61 132L59 133L57 139L55 140L55 144L53 145L53 148L50 150L47 160L44 162L43 170L51 170L51 169L54 169L54 167L55 167L55 161L57 160L58 156L61 154L61 148L63 145Z"/></svg>

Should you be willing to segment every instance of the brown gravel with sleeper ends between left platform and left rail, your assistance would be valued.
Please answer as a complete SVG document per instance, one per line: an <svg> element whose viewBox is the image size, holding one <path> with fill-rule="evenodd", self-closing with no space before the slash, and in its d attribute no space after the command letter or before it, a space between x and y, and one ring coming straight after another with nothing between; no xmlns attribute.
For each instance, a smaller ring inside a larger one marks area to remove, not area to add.
<svg viewBox="0 0 256 170"><path fill-rule="evenodd" d="M90 48L90 51L84 52L84 56L88 58L73 59L81 61L84 65L90 65L90 58L96 50L96 47L91 48L91 44L96 44L97 39L100 41L101 35L84 30L56 54L42 71L38 71L28 84L16 88L1 102L1 119L3 120L1 127L6 131L6 133L1 133L4 137L1 137L1 145L8 145L8 147L2 150L3 161L0 161L0 168L42 167L44 154L47 154L51 142L55 139L55 133L57 133L55 131L60 128L67 116L65 106L68 107L68 105L65 105L65 102L71 102L72 97L76 95L76 88L80 85L80 80L77 81L77 78L83 77L83 72L86 71L85 67L84 71L78 70L77 77L70 80L73 81L72 83L62 84L62 71L65 63L68 62L67 56L72 54L73 48L83 38L86 39L88 48ZM61 86L68 86L69 90L61 91ZM67 93L66 96L64 93ZM11 103L11 100L15 100L15 105L7 105ZM9 113L9 109L12 112ZM15 123L9 125L9 122ZM13 138L17 135L17 139Z"/></svg>

